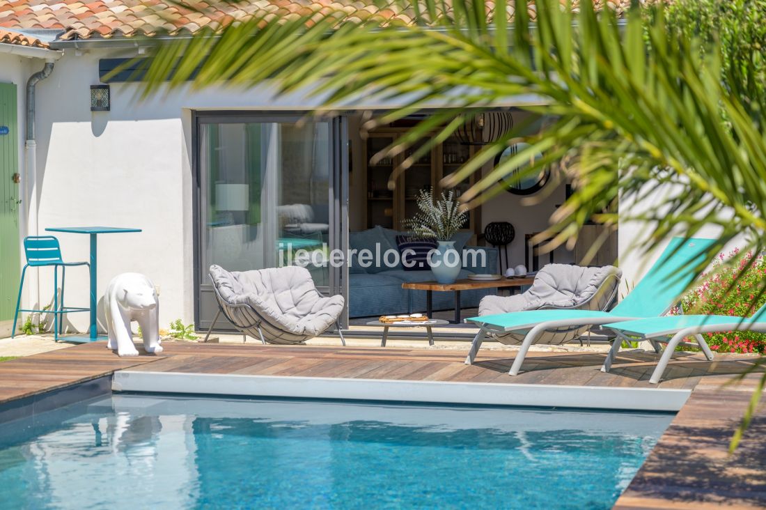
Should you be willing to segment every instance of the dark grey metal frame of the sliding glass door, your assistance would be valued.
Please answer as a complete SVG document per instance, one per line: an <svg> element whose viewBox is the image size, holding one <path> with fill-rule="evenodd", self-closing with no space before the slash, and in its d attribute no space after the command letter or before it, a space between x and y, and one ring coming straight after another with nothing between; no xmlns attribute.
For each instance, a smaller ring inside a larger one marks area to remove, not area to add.
<svg viewBox="0 0 766 510"><path fill-rule="evenodd" d="M210 327L211 319L205 321L201 318L201 306L203 293L212 294L211 282L207 278L202 278L201 263L204 258L202 250L205 248L202 239L205 236L205 222L203 221L203 199L205 199L203 183L206 182L202 176L202 167L200 161L201 152L201 125L205 123L297 123L300 120L306 120L306 112L300 111L280 111L280 112L262 112L262 111L221 111L221 110L195 110L191 113L191 174L192 174L192 203L191 203L191 225L193 232L193 250L194 250L194 324L198 331L207 331ZM329 186L329 249L341 249L345 254L349 245L349 133L348 123L345 116L332 117L322 122L329 123L329 165L331 169ZM329 265L329 285L318 286L317 289L322 294L342 294L346 307L340 318L342 328L349 324L349 290L347 282L349 281L348 263L342 267L336 268ZM219 319L216 323L217 331L234 331L227 327L226 321Z"/></svg>

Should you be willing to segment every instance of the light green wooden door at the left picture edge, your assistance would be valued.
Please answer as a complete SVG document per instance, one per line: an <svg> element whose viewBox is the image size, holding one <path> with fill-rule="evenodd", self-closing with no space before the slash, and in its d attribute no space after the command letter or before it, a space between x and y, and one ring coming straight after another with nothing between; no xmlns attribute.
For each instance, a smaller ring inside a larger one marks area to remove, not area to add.
<svg viewBox="0 0 766 510"><path fill-rule="evenodd" d="M20 278L15 84L0 84L0 336L10 331Z"/></svg>

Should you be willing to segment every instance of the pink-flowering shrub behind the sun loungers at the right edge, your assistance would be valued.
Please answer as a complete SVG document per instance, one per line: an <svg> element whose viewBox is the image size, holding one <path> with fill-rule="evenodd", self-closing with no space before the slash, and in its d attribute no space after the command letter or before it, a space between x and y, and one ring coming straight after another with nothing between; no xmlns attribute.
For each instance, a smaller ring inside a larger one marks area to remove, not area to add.
<svg viewBox="0 0 766 510"><path fill-rule="evenodd" d="M739 258L737 265L723 265L725 255L713 263L709 273L702 275L702 285L686 294L681 301L684 314L732 315L746 317L766 303L766 294L761 294L766 278L764 255L755 256L751 252L740 255L738 250L729 254L730 258ZM747 268L748 264L752 265ZM744 269L739 281L731 288L736 276ZM730 289L731 288L731 289ZM752 306L755 301L755 307ZM680 310L673 313L679 314ZM705 341L712 350L725 353L766 352L766 334L736 331L727 333L706 333ZM690 340L693 342L693 340Z"/></svg>

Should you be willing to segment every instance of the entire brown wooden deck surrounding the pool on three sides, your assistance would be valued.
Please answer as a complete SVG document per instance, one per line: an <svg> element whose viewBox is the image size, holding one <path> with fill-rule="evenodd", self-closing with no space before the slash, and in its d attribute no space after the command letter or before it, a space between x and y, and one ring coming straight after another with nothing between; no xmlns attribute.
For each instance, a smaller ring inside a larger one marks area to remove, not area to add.
<svg viewBox="0 0 766 510"><path fill-rule="evenodd" d="M466 345L467 348L467 345ZM103 342L69 347L0 363L0 403L92 380L116 370L241 373L283 377L342 377L467 383L566 384L588 387L652 387L654 354L620 354L611 373L599 368L604 354L532 353L525 372L509 377L507 351L484 350L473 366L463 350L380 347L309 347L231 344L165 344L157 356L119 358ZM616 508L741 508L766 506L766 406L728 456L728 441L762 370L738 385L725 383L753 367L755 358L679 354L660 388L692 390L692 396L647 458Z"/></svg>

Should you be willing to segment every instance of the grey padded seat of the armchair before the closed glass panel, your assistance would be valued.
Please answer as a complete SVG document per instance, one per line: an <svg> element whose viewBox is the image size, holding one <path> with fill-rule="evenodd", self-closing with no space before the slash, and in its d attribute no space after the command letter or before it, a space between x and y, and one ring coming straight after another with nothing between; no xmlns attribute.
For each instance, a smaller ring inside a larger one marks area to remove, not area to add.
<svg viewBox="0 0 766 510"><path fill-rule="evenodd" d="M247 304L267 323L264 329L283 340L302 341L299 338L324 333L345 304L341 295L319 294L309 271L298 266L229 272L211 265L210 275L227 304Z"/></svg>

